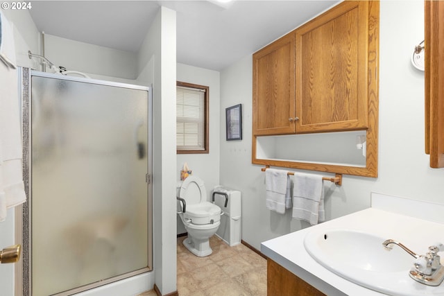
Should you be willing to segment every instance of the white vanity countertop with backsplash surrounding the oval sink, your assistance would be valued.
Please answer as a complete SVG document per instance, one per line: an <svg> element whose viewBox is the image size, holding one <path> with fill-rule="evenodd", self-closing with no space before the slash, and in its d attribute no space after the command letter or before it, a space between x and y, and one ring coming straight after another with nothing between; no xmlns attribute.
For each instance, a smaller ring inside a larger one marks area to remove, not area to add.
<svg viewBox="0 0 444 296"><path fill-rule="evenodd" d="M402 207L400 207L397 202L402 202L402 204L409 204L409 202L411 202L411 200L407 200L406 202L406 200L402 198L391 199L391 197L387 196L388 195L376 196L375 202L372 200L372 204L377 205L379 209L372 207L302 229L298 232L273 238L261 244L261 251L268 256L268 258L279 263L282 267L293 272L293 274L311 286L321 290L321 292L326 295L384 295L383 293L354 284L324 268L307 253L304 247L304 238L308 232L315 229L355 229L377 234L387 239L395 239L419 254L425 254L429 245L433 245L436 242L444 243L444 224L440 217L444 216L442 214L444 212L442 211L444 205L420 202L422 205L418 206L418 201L413 200L413 204L411 204L411 210L413 212L418 211L418 207L422 206L425 207L425 210L419 211L422 214L424 211L426 211L427 214L427 211L430 212L430 209L432 209L432 214L429 214L429 220L438 221L432 222L422 219L422 216L420 216L420 218L414 218L412 217L416 216L414 214L412 216L406 216L406 213L411 213L410 211L401 211L402 214L387 211L387 209L393 211L402 210ZM382 206L379 204L381 200ZM387 204L388 206L386 206ZM433 237L431 237L431 234L433 234ZM441 259L441 262L443 262L443 259ZM407 273L406 277L409 277ZM413 281L413 279L411 281Z"/></svg>

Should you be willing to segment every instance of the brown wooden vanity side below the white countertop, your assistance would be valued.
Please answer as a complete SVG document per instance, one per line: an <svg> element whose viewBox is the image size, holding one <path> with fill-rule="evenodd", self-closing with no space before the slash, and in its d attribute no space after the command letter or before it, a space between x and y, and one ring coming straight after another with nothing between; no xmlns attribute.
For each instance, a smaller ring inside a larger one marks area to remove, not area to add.
<svg viewBox="0 0 444 296"><path fill-rule="evenodd" d="M271 259L267 259L267 296L326 296Z"/></svg>

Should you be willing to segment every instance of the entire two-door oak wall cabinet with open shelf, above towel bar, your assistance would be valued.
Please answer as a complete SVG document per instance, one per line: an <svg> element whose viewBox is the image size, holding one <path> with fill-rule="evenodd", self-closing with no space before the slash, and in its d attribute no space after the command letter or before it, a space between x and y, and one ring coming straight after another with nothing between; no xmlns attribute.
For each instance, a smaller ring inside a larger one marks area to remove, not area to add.
<svg viewBox="0 0 444 296"><path fill-rule="evenodd" d="M253 54L253 164L377 177L379 1L343 1ZM257 137L366 131L366 167L257 159Z"/></svg>

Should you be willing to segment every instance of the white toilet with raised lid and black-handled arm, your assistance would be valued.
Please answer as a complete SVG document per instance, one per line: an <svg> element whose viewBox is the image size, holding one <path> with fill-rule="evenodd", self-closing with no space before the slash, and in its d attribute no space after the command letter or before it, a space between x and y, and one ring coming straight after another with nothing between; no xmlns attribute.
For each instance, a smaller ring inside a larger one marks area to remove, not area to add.
<svg viewBox="0 0 444 296"><path fill-rule="evenodd" d="M221 208L207 201L207 190L200 178L190 175L177 186L177 196L182 219L188 237L183 241L189 252L203 257L210 255L210 237L221 225ZM184 209L185 207L185 209Z"/></svg>

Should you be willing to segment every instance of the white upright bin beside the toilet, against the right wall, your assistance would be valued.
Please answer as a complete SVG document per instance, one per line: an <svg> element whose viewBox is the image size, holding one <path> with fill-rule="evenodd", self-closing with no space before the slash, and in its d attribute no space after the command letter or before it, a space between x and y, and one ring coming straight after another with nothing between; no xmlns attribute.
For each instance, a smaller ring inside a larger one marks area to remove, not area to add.
<svg viewBox="0 0 444 296"><path fill-rule="evenodd" d="M226 207L225 195L228 198ZM222 238L230 246L239 245L241 243L241 191L216 186L212 190L211 197L212 202L224 211L216 236Z"/></svg>

